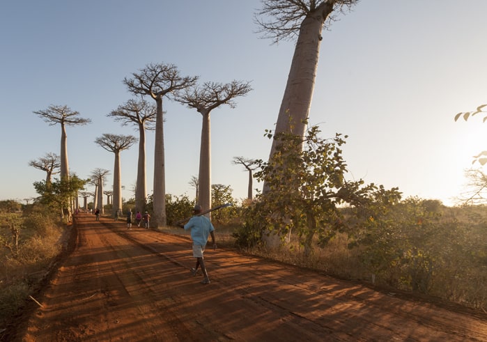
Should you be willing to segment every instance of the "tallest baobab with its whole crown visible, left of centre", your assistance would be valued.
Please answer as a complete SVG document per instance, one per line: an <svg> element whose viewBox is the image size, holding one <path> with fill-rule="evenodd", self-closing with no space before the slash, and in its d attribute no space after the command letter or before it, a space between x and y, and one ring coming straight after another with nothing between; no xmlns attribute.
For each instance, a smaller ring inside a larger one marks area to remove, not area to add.
<svg viewBox="0 0 487 342"><path fill-rule="evenodd" d="M164 165L164 120L162 100L169 98L176 91L193 86L198 77L183 77L173 64L148 64L139 72L132 73L132 78L123 79L123 83L134 95L150 96L155 100L155 146L154 146L154 189L152 224L165 226L166 217L166 171Z"/></svg>

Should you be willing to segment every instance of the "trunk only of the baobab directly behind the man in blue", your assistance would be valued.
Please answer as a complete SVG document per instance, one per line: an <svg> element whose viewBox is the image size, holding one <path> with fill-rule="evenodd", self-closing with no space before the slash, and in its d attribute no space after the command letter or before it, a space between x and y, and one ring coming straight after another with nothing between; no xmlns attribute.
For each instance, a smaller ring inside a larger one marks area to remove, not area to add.
<svg viewBox="0 0 487 342"><path fill-rule="evenodd" d="M210 136L210 111L202 110L203 124L201 125L201 149L199 152L199 194L198 201L201 208L211 208L211 136ZM210 217L210 212L206 214Z"/></svg>

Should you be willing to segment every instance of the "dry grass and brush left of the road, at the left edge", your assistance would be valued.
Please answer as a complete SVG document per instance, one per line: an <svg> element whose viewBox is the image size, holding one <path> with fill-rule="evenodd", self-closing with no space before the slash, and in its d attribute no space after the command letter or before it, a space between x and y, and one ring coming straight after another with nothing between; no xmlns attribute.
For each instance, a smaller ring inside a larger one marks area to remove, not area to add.
<svg viewBox="0 0 487 342"><path fill-rule="evenodd" d="M61 254L65 231L65 224L43 206L0 213L0 330L46 277Z"/></svg>

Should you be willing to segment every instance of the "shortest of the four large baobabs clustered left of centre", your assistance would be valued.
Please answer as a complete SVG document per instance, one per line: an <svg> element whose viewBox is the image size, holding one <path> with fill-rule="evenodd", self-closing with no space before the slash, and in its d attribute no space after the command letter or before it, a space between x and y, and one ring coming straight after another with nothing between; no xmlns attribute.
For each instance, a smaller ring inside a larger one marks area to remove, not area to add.
<svg viewBox="0 0 487 342"><path fill-rule="evenodd" d="M120 153L123 150L127 150L134 143L137 142L137 138L133 135L117 135L117 134L102 134L95 140L102 148L115 154L114 163L114 199L112 205L112 214L116 217L118 210L122 209L122 182L120 171Z"/></svg>

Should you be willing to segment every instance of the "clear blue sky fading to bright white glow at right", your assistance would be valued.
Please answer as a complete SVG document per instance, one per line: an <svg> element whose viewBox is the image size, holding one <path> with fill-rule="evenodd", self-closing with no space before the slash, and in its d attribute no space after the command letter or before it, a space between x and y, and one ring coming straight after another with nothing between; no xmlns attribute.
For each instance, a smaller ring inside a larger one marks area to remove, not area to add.
<svg viewBox="0 0 487 342"><path fill-rule="evenodd" d="M132 98L123 78L148 63L173 63L201 82L252 81L235 109L211 114L212 184L245 198L247 173L233 157L267 160L263 134L277 121L294 51L293 42L272 45L256 33L260 7L258 0L1 1L0 200L37 196L32 184L45 173L29 161L59 155L61 128L33 114L49 104L91 118L67 128L70 171L88 178L95 168L110 170L110 189L114 155L94 141L103 133L138 137L107 114ZM486 13L484 0L364 0L323 32L310 123L323 137L348 134L349 179L454 204L472 156L487 150L483 116L454 122L459 111L487 103ZM164 111L167 193L193 198L201 115L169 100ZM153 142L148 132L148 194ZM121 164L128 199L137 146L121 153Z"/></svg>

